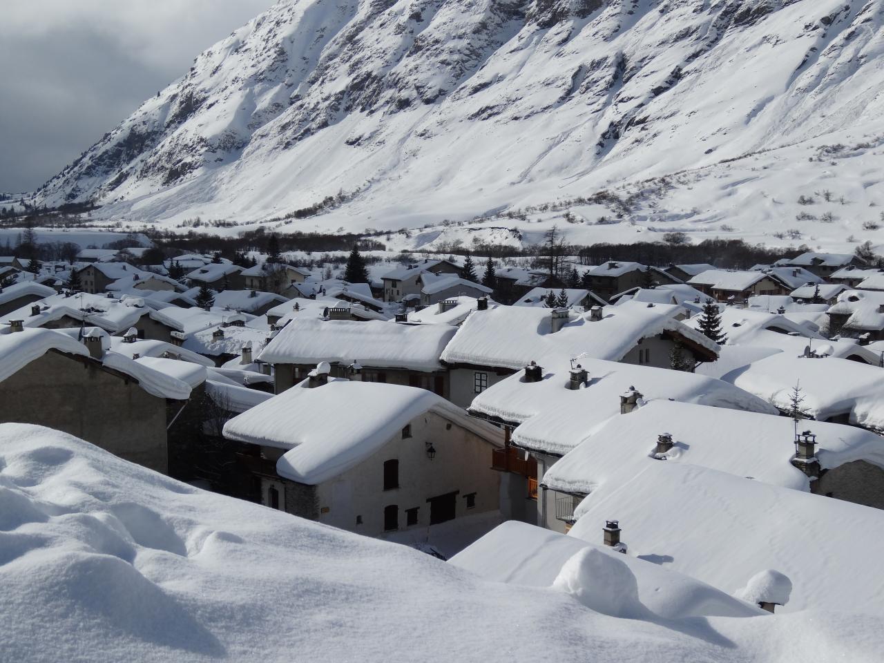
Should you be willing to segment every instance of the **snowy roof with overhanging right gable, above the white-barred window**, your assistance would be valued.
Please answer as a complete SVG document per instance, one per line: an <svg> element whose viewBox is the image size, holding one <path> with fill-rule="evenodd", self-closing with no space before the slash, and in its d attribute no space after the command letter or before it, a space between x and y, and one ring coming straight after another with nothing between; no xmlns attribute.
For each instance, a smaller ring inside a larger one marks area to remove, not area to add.
<svg viewBox="0 0 884 663"><path fill-rule="evenodd" d="M499 306L469 316L448 344L442 359L518 370L528 362L552 368L586 355L620 361L639 339L660 333L677 333L715 353L718 346L699 332L674 319L678 306L625 302L607 306L603 319L591 314L568 313L568 324L552 332L552 309Z"/></svg>

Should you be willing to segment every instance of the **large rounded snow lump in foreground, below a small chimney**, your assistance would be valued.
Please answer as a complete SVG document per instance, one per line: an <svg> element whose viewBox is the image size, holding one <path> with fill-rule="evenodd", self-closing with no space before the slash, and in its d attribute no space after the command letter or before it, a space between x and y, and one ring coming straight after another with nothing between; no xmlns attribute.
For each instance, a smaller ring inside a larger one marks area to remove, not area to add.
<svg viewBox="0 0 884 663"><path fill-rule="evenodd" d="M638 583L629 567L596 548L575 552L562 566L552 588L571 594L597 613L628 619L650 615L638 599Z"/></svg>

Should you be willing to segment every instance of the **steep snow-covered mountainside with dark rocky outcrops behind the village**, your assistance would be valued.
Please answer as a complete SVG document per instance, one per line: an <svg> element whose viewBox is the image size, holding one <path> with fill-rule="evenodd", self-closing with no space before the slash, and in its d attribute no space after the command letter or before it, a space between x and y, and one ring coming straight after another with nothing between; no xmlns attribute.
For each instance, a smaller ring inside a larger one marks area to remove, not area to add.
<svg viewBox="0 0 884 663"><path fill-rule="evenodd" d="M266 220L337 196L298 223L361 231L668 175L629 220L705 229L744 214L734 196L816 179L868 207L884 203L882 21L884 0L281 0L38 198L173 224ZM863 158L809 162L824 145ZM731 159L759 152L763 165L733 163L755 175L731 176ZM669 200L672 182L706 193ZM747 223L778 214L796 225L776 209ZM865 220L846 217L841 240Z"/></svg>

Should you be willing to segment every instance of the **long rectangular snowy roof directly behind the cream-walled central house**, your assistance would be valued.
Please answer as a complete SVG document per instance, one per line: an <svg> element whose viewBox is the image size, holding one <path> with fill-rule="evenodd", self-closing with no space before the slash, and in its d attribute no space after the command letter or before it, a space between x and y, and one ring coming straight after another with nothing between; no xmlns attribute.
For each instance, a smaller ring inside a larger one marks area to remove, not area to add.
<svg viewBox="0 0 884 663"><path fill-rule="evenodd" d="M268 363L315 364L358 360L371 368L439 370L439 354L454 334L444 324L297 317L258 357Z"/></svg>

